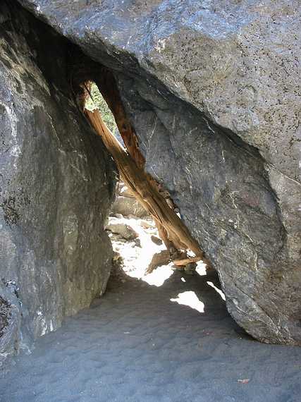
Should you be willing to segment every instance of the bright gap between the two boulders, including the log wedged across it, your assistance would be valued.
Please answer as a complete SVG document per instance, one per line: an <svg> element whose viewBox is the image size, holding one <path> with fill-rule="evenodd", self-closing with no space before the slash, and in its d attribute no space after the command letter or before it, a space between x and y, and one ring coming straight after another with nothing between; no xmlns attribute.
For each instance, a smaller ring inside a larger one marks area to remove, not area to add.
<svg viewBox="0 0 301 402"><path fill-rule="evenodd" d="M109 71L105 77L99 80L99 87L92 81L81 87L85 116L102 137L119 172L116 200L106 224L113 264L119 264L125 274L156 286L173 271L206 274L211 266L181 221L171 195L145 173L145 158L115 80Z"/></svg>

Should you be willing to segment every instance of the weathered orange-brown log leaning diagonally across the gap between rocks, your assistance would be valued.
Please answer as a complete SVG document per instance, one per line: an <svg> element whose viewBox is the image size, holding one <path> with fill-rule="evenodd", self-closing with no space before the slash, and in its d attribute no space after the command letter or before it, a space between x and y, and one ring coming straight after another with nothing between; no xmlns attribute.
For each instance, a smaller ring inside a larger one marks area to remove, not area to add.
<svg viewBox="0 0 301 402"><path fill-rule="evenodd" d="M125 185L130 188L135 198L152 216L159 229L159 234L164 232L171 244L177 250L191 250L195 257L193 261L204 260L204 253L199 248L197 241L192 238L183 221L176 212L168 206L165 198L159 193L158 188L145 171L138 167L130 155L123 149L118 140L106 127L98 110L85 109L85 115L92 124L94 130L102 137L104 145L111 153ZM187 262L190 259L187 258Z"/></svg>

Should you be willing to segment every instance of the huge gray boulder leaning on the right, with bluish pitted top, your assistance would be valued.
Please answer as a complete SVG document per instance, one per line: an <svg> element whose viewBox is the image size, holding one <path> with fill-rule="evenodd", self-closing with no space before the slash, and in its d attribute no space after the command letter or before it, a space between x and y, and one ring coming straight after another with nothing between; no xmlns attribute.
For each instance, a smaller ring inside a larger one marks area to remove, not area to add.
<svg viewBox="0 0 301 402"><path fill-rule="evenodd" d="M115 71L231 315L301 344L299 1L20 3Z"/></svg>

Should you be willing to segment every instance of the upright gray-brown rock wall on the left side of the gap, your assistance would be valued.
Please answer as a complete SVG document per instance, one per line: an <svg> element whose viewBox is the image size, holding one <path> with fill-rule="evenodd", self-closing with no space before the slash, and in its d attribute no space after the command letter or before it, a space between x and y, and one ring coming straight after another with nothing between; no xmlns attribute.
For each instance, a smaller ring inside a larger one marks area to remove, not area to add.
<svg viewBox="0 0 301 402"><path fill-rule="evenodd" d="M70 44L10 1L0 35L0 297L22 305L8 353L104 292L115 168L71 96Z"/></svg>

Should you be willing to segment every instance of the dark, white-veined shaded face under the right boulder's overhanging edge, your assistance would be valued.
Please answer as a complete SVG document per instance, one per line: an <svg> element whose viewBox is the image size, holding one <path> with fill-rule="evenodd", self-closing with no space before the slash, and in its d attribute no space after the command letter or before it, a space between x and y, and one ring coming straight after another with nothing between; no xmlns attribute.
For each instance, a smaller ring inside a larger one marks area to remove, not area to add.
<svg viewBox="0 0 301 402"><path fill-rule="evenodd" d="M284 229L262 157L190 105L166 99L159 109L149 88L146 103L142 85L122 82L147 168L168 183L183 219L219 270L228 309L259 339L283 341L274 324L283 311L275 303L281 306L288 289L278 300L266 292L274 291L271 264L283 269Z"/></svg>

